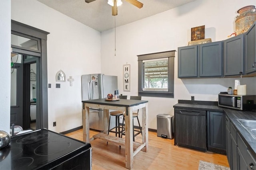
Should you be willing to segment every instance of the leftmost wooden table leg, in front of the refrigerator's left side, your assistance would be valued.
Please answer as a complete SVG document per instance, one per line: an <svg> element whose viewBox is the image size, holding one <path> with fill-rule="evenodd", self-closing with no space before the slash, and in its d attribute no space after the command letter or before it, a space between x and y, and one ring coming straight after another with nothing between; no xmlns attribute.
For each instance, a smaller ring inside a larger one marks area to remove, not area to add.
<svg viewBox="0 0 256 170"><path fill-rule="evenodd" d="M82 109L83 141L90 143L89 107L83 103Z"/></svg>

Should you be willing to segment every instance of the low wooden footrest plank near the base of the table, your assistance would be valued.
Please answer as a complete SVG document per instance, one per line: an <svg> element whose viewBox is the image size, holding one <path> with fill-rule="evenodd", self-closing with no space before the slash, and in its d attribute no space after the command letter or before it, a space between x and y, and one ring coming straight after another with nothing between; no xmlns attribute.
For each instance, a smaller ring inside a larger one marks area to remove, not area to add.
<svg viewBox="0 0 256 170"><path fill-rule="evenodd" d="M114 144L117 144L118 146L125 146L125 139L114 137L107 135L105 133L98 133L93 136L94 139L102 139L107 142L112 142ZM138 147L140 147L141 143L133 142L133 150L136 150Z"/></svg>

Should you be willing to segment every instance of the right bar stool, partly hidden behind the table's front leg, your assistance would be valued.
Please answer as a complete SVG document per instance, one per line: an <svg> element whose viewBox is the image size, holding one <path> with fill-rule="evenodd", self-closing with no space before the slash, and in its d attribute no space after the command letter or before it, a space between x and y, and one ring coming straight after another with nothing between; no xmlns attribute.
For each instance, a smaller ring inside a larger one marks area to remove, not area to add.
<svg viewBox="0 0 256 170"><path fill-rule="evenodd" d="M130 96L130 100L141 100L141 96ZM137 110L137 112L133 112L132 113L132 127L133 127L133 141L135 141L135 137L141 133L142 135L142 129L140 127L140 121L139 121L139 118L138 118L138 113L139 113L139 110ZM123 113L124 117L125 117L125 113ZM137 118L138 120L138 124L139 124L139 129L140 130L136 130L134 129L134 118ZM124 129L124 118L123 118L123 123L122 123L122 134L121 134L121 138L123 137L123 135L125 135L125 129ZM137 132L137 133L134 133L134 132Z"/></svg>

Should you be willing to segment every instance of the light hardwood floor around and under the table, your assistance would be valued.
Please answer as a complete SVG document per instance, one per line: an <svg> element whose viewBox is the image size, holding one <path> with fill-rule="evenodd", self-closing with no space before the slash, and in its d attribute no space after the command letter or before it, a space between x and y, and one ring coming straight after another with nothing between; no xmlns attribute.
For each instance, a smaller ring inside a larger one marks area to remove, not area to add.
<svg viewBox="0 0 256 170"><path fill-rule="evenodd" d="M90 137L97 133L90 130ZM198 170L199 160L229 167L226 155L174 146L174 139L157 137L155 132L148 135L148 152L140 151L134 156L133 170ZM66 136L82 141L82 129ZM135 140L141 142L141 136L136 136ZM92 141L91 145L93 170L127 170L124 147L107 145L101 139Z"/></svg>

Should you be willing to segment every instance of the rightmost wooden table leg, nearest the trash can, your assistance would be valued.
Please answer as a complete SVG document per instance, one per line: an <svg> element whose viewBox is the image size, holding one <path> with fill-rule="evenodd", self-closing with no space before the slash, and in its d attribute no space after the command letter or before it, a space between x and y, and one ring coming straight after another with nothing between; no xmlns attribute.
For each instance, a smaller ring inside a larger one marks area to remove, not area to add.
<svg viewBox="0 0 256 170"><path fill-rule="evenodd" d="M146 107L142 108L142 143L146 143L142 149L144 152L148 151L148 103Z"/></svg>

